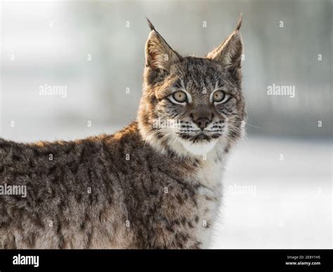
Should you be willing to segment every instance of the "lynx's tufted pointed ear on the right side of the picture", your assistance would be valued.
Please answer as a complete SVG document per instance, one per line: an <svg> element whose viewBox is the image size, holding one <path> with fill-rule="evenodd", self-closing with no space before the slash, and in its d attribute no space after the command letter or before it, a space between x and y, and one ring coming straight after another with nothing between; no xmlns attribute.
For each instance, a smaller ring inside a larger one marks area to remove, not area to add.
<svg viewBox="0 0 333 272"><path fill-rule="evenodd" d="M240 69L241 58L243 53L242 35L240 34L240 26L242 25L242 15L238 19L236 29L223 43L211 51L207 58L220 63L224 67L233 70Z"/></svg>

